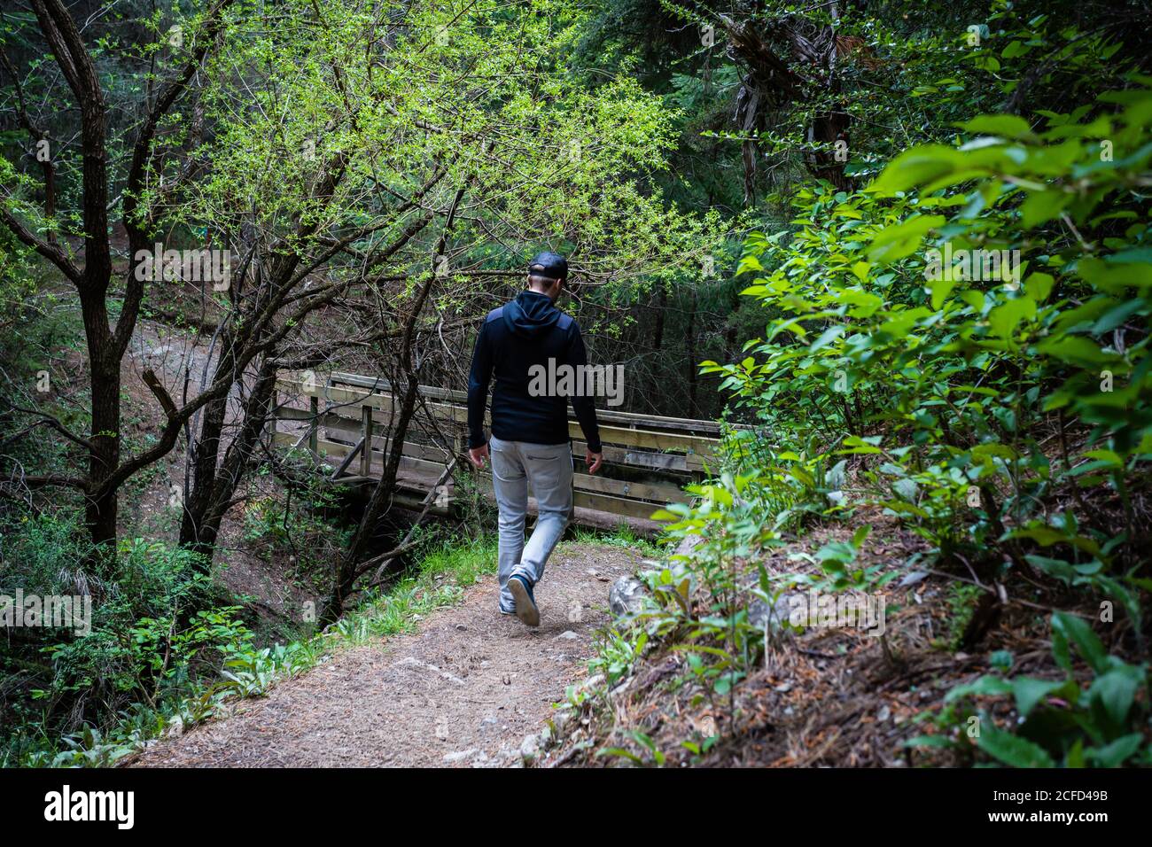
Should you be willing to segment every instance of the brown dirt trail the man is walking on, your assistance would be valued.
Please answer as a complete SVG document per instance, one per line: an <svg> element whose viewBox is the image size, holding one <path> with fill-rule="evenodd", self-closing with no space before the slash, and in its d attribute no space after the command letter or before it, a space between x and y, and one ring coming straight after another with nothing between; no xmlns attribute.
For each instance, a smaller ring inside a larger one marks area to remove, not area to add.
<svg viewBox="0 0 1152 847"><path fill-rule="evenodd" d="M537 589L540 626L497 612L495 576L414 635L333 655L232 717L145 750L135 766L507 766L564 687L588 675L612 582L638 555L562 544Z"/></svg>

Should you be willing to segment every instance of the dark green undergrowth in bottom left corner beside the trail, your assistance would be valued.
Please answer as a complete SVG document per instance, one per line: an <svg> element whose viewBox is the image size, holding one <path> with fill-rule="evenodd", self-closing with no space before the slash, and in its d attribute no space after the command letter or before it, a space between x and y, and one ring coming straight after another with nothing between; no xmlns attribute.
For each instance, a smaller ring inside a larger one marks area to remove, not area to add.
<svg viewBox="0 0 1152 847"><path fill-rule="evenodd" d="M251 637L238 607L219 603L198 558L179 547L123 540L115 558L92 557L67 513L13 516L0 536L0 593L88 596L90 632L23 628L0 659L21 680L0 725L6 756L39 742L29 735L96 726L134 703L183 696L205 667ZM7 689L8 687L5 686Z"/></svg>

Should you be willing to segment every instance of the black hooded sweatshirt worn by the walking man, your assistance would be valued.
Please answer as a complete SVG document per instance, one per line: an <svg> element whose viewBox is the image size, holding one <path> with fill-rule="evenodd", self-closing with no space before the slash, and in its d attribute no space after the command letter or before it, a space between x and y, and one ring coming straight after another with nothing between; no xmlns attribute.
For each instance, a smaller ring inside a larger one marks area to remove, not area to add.
<svg viewBox="0 0 1152 847"><path fill-rule="evenodd" d="M553 368L548 366L553 361ZM532 396L532 365L553 372L555 365L584 365L588 354L576 322L552 304L546 294L521 292L516 300L493 309L476 338L468 377L469 446L487 443L484 403L492 387L492 434L505 441L563 444L568 440L568 401L571 400L588 448L600 452L596 407L589 396ZM576 371L579 372L578 370Z"/></svg>

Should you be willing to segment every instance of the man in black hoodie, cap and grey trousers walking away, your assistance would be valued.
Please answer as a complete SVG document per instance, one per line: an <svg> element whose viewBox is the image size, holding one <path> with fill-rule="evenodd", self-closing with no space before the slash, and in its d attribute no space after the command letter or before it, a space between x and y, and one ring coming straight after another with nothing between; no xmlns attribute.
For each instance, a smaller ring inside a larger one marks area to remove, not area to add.
<svg viewBox="0 0 1152 847"><path fill-rule="evenodd" d="M568 441L568 400L540 391L530 373L554 373L588 363L579 327L555 302L568 281L568 262L541 252L528 266L528 290L493 309L484 319L468 377L468 457L477 468L492 462L492 484L500 509L500 612L539 626L533 588L563 535L573 511L573 454ZM550 366L551 364L551 366ZM484 404L492 388L492 438L484 438ZM604 454L596 407L590 396L571 398L588 441L588 472L600 469ZM490 452L491 451L491 452ZM539 506L536 529L524 543L528 484Z"/></svg>

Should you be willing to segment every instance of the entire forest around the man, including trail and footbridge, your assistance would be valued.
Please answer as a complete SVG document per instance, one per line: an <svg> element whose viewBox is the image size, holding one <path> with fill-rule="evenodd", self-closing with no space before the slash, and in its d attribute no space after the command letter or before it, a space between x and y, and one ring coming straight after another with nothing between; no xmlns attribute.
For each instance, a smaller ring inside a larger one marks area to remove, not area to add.
<svg viewBox="0 0 1152 847"><path fill-rule="evenodd" d="M0 765L1152 766L1150 36L6 2ZM463 424L541 251L619 379L531 629Z"/></svg>

